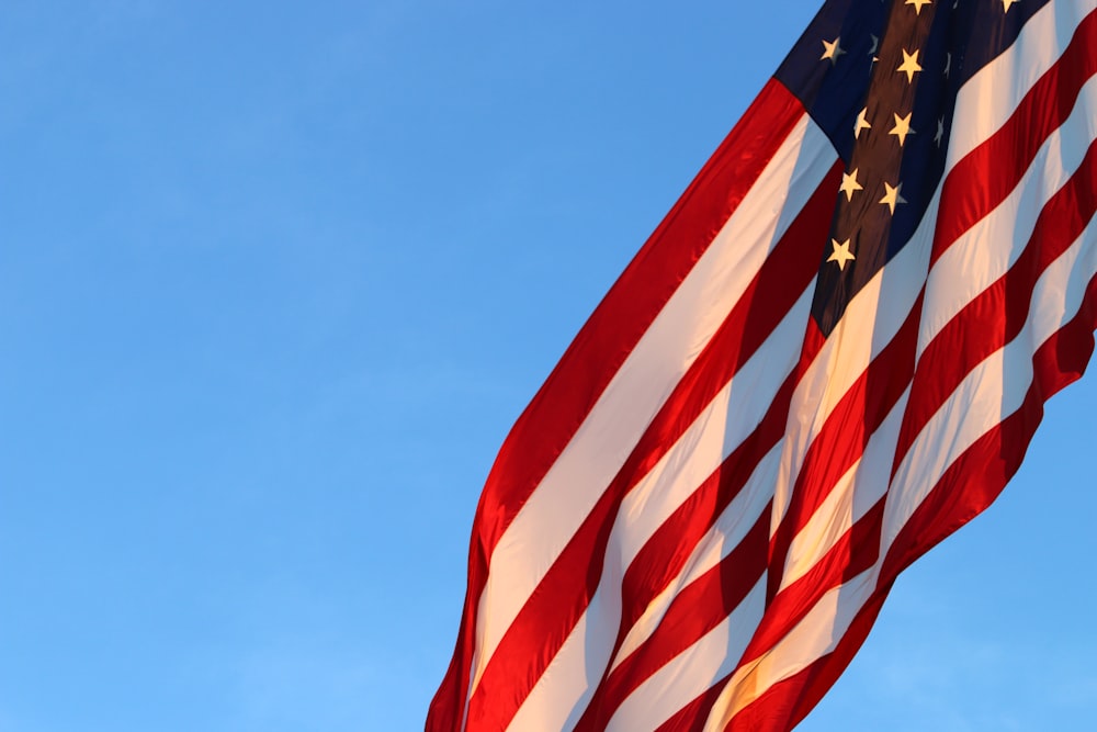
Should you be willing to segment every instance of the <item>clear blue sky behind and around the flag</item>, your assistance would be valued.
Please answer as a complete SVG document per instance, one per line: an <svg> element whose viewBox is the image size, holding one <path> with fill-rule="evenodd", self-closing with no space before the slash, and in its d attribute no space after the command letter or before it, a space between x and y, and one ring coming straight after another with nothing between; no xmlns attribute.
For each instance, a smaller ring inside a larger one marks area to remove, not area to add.
<svg viewBox="0 0 1097 732"><path fill-rule="evenodd" d="M0 9L0 732L422 728L476 499L815 0ZM803 730L1092 730L1097 381Z"/></svg>

